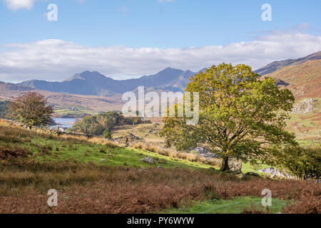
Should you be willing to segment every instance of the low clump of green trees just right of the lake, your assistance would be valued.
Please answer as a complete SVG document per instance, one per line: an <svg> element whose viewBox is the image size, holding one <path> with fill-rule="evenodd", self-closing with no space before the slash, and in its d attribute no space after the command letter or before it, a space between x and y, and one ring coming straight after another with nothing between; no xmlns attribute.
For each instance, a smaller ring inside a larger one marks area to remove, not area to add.
<svg viewBox="0 0 321 228"><path fill-rule="evenodd" d="M142 123L142 120L139 117L126 118L121 113L111 111L104 114L85 117L80 122L73 125L72 128L68 129L68 131L88 135L103 135L106 130L110 132L116 125L133 123Z"/></svg>

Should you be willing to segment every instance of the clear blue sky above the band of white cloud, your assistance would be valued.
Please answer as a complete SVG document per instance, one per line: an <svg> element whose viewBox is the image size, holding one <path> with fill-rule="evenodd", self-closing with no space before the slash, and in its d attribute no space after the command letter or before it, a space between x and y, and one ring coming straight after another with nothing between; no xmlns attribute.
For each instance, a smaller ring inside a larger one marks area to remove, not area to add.
<svg viewBox="0 0 321 228"><path fill-rule="evenodd" d="M82 3L81 3L82 2ZM46 19L58 6L58 21ZM261 6L272 6L272 21L262 21ZM250 41L258 31L310 24L321 33L321 1L260 0L56 0L36 1L32 9L0 6L1 43L57 38L86 46L183 48Z"/></svg>

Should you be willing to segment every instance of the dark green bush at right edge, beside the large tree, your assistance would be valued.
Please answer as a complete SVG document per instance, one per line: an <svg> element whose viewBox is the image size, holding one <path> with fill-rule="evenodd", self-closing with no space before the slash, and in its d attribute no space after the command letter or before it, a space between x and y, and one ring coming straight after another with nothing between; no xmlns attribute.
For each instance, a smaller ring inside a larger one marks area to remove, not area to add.
<svg viewBox="0 0 321 228"><path fill-rule="evenodd" d="M300 179L317 179L321 176L321 147L286 147L275 154L273 163Z"/></svg>

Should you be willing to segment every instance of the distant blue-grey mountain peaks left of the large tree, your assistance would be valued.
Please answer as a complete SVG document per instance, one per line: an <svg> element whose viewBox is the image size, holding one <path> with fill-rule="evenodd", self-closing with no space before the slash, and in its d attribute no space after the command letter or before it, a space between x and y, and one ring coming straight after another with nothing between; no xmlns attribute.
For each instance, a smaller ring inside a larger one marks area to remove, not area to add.
<svg viewBox="0 0 321 228"><path fill-rule="evenodd" d="M83 71L62 82L24 81L20 84L58 93L110 96L134 90L138 86L157 88L159 90L183 90L190 76L194 74L189 70L182 71L168 67L151 76L142 76L141 78L131 78L128 80L114 80L98 71Z"/></svg>

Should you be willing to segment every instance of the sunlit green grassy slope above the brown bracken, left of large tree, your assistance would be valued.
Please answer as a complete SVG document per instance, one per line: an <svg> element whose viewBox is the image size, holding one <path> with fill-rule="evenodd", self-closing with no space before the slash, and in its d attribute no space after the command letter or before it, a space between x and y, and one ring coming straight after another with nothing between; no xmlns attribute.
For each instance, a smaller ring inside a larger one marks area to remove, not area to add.
<svg viewBox="0 0 321 228"><path fill-rule="evenodd" d="M16 135L16 140L6 140ZM1 137L3 136L3 137ZM76 140L63 137L54 137L42 134L30 134L27 130L11 129L0 126L0 147L23 147L33 152L36 161L63 161L76 160L78 162L93 162L96 165L126 165L131 167L182 167L182 168L209 168L187 160L170 160L170 157L158 155L144 150L131 150L122 147L111 147L110 142L102 139ZM101 143L101 144L100 144ZM105 145L104 145L105 144ZM141 162L143 157L153 157L155 165ZM103 162L107 159L107 162Z"/></svg>

